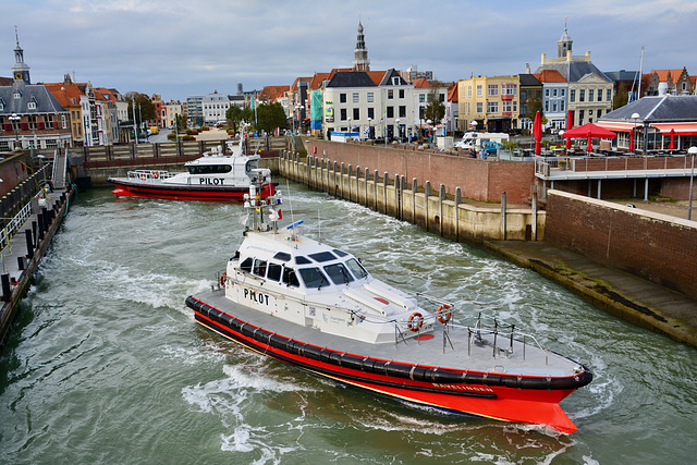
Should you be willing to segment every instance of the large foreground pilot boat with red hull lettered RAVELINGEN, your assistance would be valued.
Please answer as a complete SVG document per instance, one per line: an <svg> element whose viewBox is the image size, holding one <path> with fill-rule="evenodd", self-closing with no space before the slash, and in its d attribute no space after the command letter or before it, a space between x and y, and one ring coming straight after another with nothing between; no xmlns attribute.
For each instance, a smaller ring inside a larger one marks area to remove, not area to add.
<svg viewBox="0 0 697 465"><path fill-rule="evenodd" d="M306 371L440 411L577 428L559 405L592 374L513 325L374 278L348 252L285 228L281 194L245 201L253 224L195 321ZM268 215L268 221L265 216ZM247 215L249 221L249 215ZM424 302L424 304L420 304ZM430 309L427 309L430 308Z"/></svg>

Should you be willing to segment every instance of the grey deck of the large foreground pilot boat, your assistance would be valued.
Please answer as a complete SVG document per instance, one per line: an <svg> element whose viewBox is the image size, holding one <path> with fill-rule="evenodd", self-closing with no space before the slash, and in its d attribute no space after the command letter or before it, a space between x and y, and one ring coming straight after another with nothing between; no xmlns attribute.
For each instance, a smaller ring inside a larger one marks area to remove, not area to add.
<svg viewBox="0 0 697 465"><path fill-rule="evenodd" d="M574 360L543 351L531 336L526 336L524 344L519 339L511 343L510 333L497 334L494 346L493 333L482 331L481 339L478 340L474 332L457 325L454 318L448 325L445 334L445 326L437 323L432 332L420 334L420 340L400 338L395 334L395 343L371 344L298 326L244 307L225 298L223 290L199 293L194 295L194 298L278 335L337 352L394 363L550 378L573 376L580 367L580 364ZM432 338L428 338L429 335Z"/></svg>

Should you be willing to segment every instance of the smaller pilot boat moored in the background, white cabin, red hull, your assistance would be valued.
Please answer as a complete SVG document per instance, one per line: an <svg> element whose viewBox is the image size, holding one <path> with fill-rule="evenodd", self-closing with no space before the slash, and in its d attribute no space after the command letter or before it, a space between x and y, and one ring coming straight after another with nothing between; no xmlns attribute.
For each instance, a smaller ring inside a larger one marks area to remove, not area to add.
<svg viewBox="0 0 697 465"><path fill-rule="evenodd" d="M112 193L123 197L155 197L175 200L242 200L250 185L259 186L260 198L276 191L271 170L259 168L260 156L244 155L244 138L237 146L228 143L232 155L215 147L201 158L186 162L186 172L133 170L126 178L109 178Z"/></svg>

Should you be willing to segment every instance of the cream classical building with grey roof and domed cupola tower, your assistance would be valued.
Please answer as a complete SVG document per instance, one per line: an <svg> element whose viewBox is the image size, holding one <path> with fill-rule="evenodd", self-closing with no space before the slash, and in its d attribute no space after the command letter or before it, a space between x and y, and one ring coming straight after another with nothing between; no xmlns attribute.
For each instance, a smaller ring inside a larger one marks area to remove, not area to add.
<svg viewBox="0 0 697 465"><path fill-rule="evenodd" d="M535 74L558 71L568 83L567 110L573 111L574 126L598 121L612 109L613 82L590 61L590 51L583 57L573 54L573 40L564 24L564 33L557 42L557 58L542 53Z"/></svg>

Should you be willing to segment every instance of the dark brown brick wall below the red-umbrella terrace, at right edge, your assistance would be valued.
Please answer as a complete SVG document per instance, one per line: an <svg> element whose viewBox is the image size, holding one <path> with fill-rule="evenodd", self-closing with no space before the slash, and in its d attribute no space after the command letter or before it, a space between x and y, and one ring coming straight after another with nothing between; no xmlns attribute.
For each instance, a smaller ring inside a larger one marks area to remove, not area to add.
<svg viewBox="0 0 697 465"><path fill-rule="evenodd" d="M545 241L697 298L697 224L549 191Z"/></svg>

